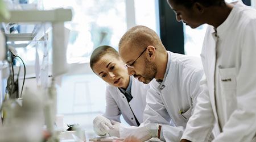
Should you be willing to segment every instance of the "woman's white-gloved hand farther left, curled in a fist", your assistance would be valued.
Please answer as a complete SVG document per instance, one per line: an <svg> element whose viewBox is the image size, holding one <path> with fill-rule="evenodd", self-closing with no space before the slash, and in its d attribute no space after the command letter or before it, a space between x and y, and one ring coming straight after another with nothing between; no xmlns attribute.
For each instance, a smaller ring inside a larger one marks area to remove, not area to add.
<svg viewBox="0 0 256 142"><path fill-rule="evenodd" d="M93 130L99 136L105 136L113 126L109 119L104 116L97 116L93 120Z"/></svg>

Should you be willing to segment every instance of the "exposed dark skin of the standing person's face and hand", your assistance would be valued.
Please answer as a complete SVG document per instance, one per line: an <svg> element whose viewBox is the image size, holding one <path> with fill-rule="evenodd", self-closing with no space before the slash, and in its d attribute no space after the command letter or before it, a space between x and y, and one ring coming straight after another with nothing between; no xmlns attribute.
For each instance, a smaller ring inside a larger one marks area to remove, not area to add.
<svg viewBox="0 0 256 142"><path fill-rule="evenodd" d="M226 3L222 6L205 7L199 2L195 2L193 6L188 9L183 5L176 5L171 0L168 0L171 8L176 13L176 19L183 21L191 28L196 28L202 24L212 25L214 28L220 26L229 16L235 3ZM182 139L180 142L191 142Z"/></svg>

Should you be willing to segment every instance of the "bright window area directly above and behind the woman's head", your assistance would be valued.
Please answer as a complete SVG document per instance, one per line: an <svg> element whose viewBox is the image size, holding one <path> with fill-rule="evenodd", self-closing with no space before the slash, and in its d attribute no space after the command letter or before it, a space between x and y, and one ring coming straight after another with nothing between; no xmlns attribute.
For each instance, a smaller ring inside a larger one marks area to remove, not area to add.
<svg viewBox="0 0 256 142"><path fill-rule="evenodd" d="M126 31L124 0L44 0L44 8L72 9L71 30L67 49L68 63L89 62L93 49L100 45L118 48L119 39Z"/></svg>

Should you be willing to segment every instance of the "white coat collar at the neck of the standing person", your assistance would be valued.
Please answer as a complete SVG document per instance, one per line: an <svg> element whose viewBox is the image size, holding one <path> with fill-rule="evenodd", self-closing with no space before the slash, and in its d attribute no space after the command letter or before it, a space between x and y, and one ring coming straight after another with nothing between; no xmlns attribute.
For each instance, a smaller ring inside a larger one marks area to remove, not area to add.
<svg viewBox="0 0 256 142"><path fill-rule="evenodd" d="M230 27L230 24L233 23L234 16L237 13L236 11L239 10L239 7L241 7L242 5L244 4L241 0L236 3L236 5L233 7L230 14L228 15L228 18L226 18L226 20L216 28L217 35L221 35L226 30L230 30L229 27Z"/></svg>

